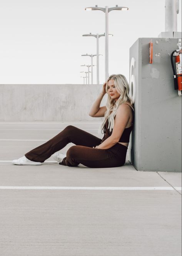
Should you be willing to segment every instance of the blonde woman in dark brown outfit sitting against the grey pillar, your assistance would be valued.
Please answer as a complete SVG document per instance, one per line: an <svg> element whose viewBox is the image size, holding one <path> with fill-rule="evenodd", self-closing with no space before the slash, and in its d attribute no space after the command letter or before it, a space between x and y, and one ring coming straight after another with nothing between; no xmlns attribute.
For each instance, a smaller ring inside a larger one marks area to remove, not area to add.
<svg viewBox="0 0 182 256"><path fill-rule="evenodd" d="M105 93L106 106L100 107ZM129 84L124 75L111 75L104 83L102 92L95 100L89 115L104 117L102 139L69 125L46 143L34 148L23 157L13 160L17 165L41 165L52 154L70 147L67 154L56 153L53 158L63 166L84 166L91 168L118 167L125 164L130 133L134 126L134 107L129 96Z"/></svg>

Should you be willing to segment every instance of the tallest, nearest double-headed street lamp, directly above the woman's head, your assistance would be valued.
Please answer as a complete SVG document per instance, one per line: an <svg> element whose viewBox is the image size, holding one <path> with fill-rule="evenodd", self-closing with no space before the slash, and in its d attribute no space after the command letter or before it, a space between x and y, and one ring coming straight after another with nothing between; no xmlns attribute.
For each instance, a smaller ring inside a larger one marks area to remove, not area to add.
<svg viewBox="0 0 182 256"><path fill-rule="evenodd" d="M109 77L108 72L108 14L112 10L129 10L128 7L119 7L116 5L115 7L109 8L108 6L105 6L105 8L98 7L98 5L95 5L95 7L86 7L85 10L87 11L94 11L94 10L100 10L102 12L105 12L105 80Z"/></svg>

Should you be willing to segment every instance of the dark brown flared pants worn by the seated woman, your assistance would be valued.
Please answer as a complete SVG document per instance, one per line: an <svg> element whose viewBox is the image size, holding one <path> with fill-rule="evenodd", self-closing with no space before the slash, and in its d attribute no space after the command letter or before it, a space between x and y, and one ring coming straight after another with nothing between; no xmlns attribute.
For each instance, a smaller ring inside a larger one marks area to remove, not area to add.
<svg viewBox="0 0 182 256"><path fill-rule="evenodd" d="M66 157L60 162L64 166L84 166L91 168L118 167L125 164L127 147L116 143L108 149L93 148L101 143L101 139L69 125L46 143L25 154L31 161L44 162L52 154L61 150L68 143L75 145L67 151Z"/></svg>

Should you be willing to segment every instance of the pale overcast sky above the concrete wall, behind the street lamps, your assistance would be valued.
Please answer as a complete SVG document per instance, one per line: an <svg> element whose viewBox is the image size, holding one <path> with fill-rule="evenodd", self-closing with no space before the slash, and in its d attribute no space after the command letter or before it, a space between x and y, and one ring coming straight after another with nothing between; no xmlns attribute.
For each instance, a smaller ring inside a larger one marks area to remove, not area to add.
<svg viewBox="0 0 182 256"><path fill-rule="evenodd" d="M181 0L178 31L181 29ZM85 7L129 7L109 13L109 75L129 80L129 48L138 38L165 31L165 0L0 0L0 84L83 84L80 65L91 64L105 14ZM99 39L100 84L105 78L105 39ZM94 57L96 64L96 57ZM96 67L94 67L96 83Z"/></svg>

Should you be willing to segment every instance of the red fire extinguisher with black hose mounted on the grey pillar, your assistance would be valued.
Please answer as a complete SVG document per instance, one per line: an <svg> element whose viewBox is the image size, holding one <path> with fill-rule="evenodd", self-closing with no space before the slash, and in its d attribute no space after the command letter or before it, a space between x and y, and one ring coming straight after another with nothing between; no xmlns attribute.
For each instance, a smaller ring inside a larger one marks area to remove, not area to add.
<svg viewBox="0 0 182 256"><path fill-rule="evenodd" d="M182 49L181 49L181 40L179 40L179 49L175 50L171 54L171 64L174 77L174 89L178 90L178 95L182 96ZM173 58L175 57L175 66Z"/></svg>

